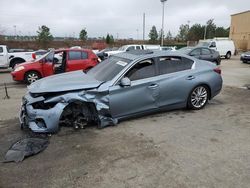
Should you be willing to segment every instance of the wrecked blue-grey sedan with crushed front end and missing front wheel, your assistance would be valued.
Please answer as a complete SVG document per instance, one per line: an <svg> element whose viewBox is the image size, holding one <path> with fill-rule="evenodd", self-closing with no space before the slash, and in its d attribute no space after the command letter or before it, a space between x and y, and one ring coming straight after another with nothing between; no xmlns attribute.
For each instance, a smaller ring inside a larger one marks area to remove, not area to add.
<svg viewBox="0 0 250 188"><path fill-rule="evenodd" d="M20 121L34 132L60 125L98 128L177 108L203 108L222 88L220 69L177 52L130 51L89 72L47 77L29 86Z"/></svg>

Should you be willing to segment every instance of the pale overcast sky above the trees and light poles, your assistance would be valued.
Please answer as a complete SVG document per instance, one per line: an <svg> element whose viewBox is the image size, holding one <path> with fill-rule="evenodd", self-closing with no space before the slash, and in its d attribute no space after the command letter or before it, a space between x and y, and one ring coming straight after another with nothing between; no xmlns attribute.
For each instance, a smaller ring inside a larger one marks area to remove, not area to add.
<svg viewBox="0 0 250 188"><path fill-rule="evenodd" d="M178 33L190 21L230 26L230 15L250 9L249 0L168 0L165 4L165 33ZM161 28L160 0L0 0L0 28L5 34L34 35L46 25L53 36L79 36L86 28L89 37L107 33L115 38L142 38L142 15L146 14L146 36L155 25ZM3 28L3 29L2 29Z"/></svg>

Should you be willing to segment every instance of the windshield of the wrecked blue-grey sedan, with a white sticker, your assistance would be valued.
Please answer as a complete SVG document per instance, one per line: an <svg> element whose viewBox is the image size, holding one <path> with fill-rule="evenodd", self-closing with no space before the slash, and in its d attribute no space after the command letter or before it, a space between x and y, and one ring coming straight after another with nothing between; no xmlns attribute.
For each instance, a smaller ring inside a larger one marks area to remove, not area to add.
<svg viewBox="0 0 250 188"><path fill-rule="evenodd" d="M121 72L130 62L131 60L129 59L111 56L90 69L87 74L99 81L109 81Z"/></svg>

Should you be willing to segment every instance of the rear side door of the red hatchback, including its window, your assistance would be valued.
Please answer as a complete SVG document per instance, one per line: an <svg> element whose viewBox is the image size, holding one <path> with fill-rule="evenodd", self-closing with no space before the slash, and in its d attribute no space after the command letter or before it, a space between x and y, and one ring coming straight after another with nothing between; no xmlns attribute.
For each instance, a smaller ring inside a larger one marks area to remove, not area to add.
<svg viewBox="0 0 250 188"><path fill-rule="evenodd" d="M69 51L66 62L66 72L75 70L85 70L88 66L88 54L82 51Z"/></svg>

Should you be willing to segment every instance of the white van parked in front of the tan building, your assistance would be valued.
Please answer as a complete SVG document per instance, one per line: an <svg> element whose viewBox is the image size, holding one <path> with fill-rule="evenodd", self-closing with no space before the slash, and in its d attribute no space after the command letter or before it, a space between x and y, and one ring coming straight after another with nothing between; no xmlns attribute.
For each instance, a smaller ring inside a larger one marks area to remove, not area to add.
<svg viewBox="0 0 250 188"><path fill-rule="evenodd" d="M214 38L200 40L198 46L205 46L214 49L220 53L220 56L230 59L235 54L234 42L229 38Z"/></svg>

